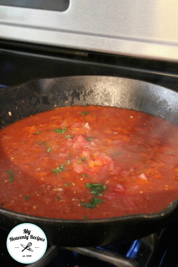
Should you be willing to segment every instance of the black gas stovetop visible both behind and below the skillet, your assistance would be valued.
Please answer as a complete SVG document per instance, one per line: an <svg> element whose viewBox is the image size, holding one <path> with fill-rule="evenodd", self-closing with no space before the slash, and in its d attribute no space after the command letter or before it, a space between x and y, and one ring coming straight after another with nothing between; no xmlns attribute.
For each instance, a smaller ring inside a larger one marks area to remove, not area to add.
<svg viewBox="0 0 178 267"><path fill-rule="evenodd" d="M178 92L178 64L174 62L143 60L3 40L0 40L0 55L1 89L25 83L34 78L106 75L140 79ZM9 255L6 248L8 233L0 229L0 235L1 265L25 266ZM143 239L124 244L118 242L117 245L102 248L76 249L48 246L45 256L28 267L111 267L114 266L112 261L112 264L103 262L100 257L104 254L107 261L110 261L112 259L110 253L113 252L117 253L117 259L114 259L114 262L116 261L118 265L115 266L175 267L178 265L177 240L178 231L175 224ZM90 256L95 254L97 259L86 256L86 253ZM118 254L122 257L118 257Z"/></svg>

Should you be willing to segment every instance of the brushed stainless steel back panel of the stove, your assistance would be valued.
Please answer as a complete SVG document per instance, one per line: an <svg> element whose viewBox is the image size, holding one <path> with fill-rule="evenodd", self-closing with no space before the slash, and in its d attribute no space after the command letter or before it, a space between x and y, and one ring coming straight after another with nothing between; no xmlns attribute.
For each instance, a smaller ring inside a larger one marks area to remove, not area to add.
<svg viewBox="0 0 178 267"><path fill-rule="evenodd" d="M64 12L0 6L0 38L178 61L177 12L177 0L70 0Z"/></svg>

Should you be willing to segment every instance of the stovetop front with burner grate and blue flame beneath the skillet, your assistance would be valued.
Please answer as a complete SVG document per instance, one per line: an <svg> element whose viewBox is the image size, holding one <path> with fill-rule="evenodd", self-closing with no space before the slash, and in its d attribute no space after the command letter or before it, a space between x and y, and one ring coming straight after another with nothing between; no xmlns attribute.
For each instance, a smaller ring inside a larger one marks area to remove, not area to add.
<svg viewBox="0 0 178 267"><path fill-rule="evenodd" d="M8 232L0 229L1 266L13 267L175 267L177 255L177 224L131 242L92 248L60 248L48 246L45 255L33 264L21 264L6 248Z"/></svg>

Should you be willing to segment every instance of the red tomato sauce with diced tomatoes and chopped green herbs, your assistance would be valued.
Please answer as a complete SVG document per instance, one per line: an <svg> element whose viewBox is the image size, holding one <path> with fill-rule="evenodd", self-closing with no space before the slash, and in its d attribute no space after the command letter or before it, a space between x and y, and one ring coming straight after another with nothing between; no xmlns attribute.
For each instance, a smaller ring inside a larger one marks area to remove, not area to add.
<svg viewBox="0 0 178 267"><path fill-rule="evenodd" d="M60 219L156 213L178 198L178 127L147 113L60 107L0 131L0 205Z"/></svg>

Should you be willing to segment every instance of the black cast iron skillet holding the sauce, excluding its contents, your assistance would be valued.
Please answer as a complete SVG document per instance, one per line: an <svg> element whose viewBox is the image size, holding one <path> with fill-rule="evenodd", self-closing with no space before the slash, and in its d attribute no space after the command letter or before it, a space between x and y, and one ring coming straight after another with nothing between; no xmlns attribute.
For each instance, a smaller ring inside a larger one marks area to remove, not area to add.
<svg viewBox="0 0 178 267"><path fill-rule="evenodd" d="M178 125L178 93L138 80L105 76L38 79L0 93L1 127L29 115L67 105L104 105L161 116ZM11 112L9 116L8 112ZM0 227L10 231L19 223L34 223L48 243L96 246L146 236L178 220L178 200L156 214L92 220L28 216L0 209Z"/></svg>

